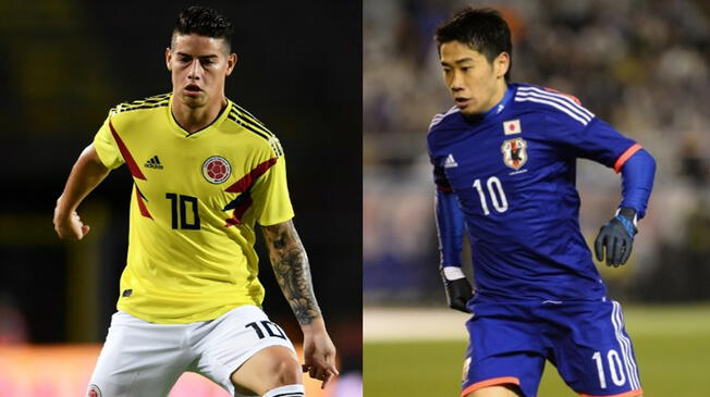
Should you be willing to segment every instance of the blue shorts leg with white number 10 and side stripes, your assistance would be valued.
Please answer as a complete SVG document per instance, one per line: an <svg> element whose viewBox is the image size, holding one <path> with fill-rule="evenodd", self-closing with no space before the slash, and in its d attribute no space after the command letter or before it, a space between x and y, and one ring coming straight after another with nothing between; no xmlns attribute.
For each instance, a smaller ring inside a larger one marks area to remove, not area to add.
<svg viewBox="0 0 710 397"><path fill-rule="evenodd" d="M546 308L552 361L562 379L582 395L640 395L632 340L619 302L564 303Z"/></svg>

